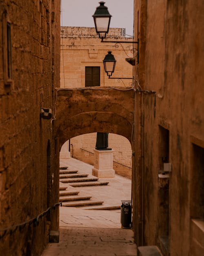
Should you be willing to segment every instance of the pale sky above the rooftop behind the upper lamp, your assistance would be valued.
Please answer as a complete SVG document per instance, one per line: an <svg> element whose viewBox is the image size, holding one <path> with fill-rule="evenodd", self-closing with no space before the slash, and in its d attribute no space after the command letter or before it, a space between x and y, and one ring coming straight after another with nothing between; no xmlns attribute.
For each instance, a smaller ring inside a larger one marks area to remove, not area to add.
<svg viewBox="0 0 204 256"><path fill-rule="evenodd" d="M100 0L61 0L61 26L94 27L92 15ZM104 0L112 15L110 27L126 28L133 35L134 0Z"/></svg>

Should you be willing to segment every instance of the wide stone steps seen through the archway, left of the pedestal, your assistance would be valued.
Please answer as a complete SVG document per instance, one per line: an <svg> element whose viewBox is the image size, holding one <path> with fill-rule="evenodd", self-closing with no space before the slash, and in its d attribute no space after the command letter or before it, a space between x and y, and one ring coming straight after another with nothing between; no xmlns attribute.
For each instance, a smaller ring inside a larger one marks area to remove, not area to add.
<svg viewBox="0 0 204 256"><path fill-rule="evenodd" d="M102 205L103 201L94 199L90 195L83 195L76 187L106 186L109 182L100 182L97 177L89 174L79 174L78 170L68 170L68 167L60 168L60 202L62 206L82 207Z"/></svg>

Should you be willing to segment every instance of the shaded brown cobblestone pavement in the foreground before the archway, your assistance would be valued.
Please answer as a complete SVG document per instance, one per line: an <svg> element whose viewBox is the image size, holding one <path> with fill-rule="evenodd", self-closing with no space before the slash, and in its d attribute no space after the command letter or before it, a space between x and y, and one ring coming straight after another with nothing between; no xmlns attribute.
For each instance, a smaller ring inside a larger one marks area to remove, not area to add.
<svg viewBox="0 0 204 256"><path fill-rule="evenodd" d="M49 244L42 256L137 255L131 229L60 228L60 243Z"/></svg>

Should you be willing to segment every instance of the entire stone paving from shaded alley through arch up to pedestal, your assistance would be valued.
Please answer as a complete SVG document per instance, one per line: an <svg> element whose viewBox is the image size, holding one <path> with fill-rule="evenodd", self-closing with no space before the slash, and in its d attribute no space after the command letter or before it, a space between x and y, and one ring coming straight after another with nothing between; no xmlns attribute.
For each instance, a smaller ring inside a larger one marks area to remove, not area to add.
<svg viewBox="0 0 204 256"><path fill-rule="evenodd" d="M92 165L76 159L61 160L60 166L91 174ZM105 206L131 199L131 180L115 175L100 178L107 186L82 187L80 192L103 200ZM131 229L121 229L120 210L91 210L89 207L60 207L60 242L49 243L42 256L135 256Z"/></svg>

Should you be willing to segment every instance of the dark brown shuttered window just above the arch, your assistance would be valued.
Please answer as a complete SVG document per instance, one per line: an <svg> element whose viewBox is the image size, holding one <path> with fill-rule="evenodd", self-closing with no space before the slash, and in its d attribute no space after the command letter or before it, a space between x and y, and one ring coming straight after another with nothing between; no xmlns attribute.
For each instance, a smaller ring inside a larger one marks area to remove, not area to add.
<svg viewBox="0 0 204 256"><path fill-rule="evenodd" d="M100 86L100 67L85 67L85 87Z"/></svg>

